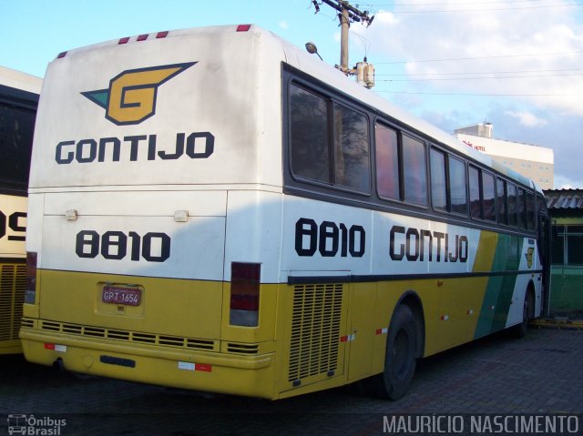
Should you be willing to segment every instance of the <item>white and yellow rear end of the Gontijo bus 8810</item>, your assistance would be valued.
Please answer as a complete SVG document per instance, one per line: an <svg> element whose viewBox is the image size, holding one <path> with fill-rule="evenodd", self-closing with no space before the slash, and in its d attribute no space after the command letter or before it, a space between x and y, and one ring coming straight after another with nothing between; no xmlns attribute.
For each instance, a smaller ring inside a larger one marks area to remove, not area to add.
<svg viewBox="0 0 583 436"><path fill-rule="evenodd" d="M278 56L244 25L51 63L29 189L27 360L275 397L261 380L275 379Z"/></svg>

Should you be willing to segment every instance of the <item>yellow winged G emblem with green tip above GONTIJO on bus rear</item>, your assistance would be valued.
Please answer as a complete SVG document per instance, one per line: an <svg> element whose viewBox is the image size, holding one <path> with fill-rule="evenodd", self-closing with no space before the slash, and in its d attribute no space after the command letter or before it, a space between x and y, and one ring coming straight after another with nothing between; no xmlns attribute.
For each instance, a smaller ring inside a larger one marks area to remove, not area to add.
<svg viewBox="0 0 583 436"><path fill-rule="evenodd" d="M106 118L118 126L139 124L156 112L158 87L196 62L149 66L122 71L109 81L109 88L81 94L106 109Z"/></svg>

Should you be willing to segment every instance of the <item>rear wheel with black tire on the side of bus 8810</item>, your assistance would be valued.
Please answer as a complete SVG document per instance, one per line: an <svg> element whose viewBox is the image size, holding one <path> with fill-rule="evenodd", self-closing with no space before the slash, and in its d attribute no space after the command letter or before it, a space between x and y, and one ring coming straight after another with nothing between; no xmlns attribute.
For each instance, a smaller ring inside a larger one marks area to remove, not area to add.
<svg viewBox="0 0 583 436"><path fill-rule="evenodd" d="M384 372L368 383L376 397L395 401L409 389L417 359L415 322L413 311L406 304L394 311L386 339Z"/></svg>

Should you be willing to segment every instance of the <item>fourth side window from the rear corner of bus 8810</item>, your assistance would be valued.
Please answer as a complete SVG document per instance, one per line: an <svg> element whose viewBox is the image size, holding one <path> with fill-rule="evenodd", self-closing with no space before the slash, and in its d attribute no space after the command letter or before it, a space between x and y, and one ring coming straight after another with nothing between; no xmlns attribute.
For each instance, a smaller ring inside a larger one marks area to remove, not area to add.
<svg viewBox="0 0 583 436"><path fill-rule="evenodd" d="M404 201L427 204L427 170L425 146L412 137L403 136Z"/></svg>

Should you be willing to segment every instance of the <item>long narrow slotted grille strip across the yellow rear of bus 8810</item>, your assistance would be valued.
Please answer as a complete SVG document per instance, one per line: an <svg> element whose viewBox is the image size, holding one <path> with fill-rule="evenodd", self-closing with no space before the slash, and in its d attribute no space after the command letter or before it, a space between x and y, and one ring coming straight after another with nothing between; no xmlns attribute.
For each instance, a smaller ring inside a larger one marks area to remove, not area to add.
<svg viewBox="0 0 583 436"><path fill-rule="evenodd" d="M40 330L66 333L86 338L103 338L107 340L123 340L140 344L158 345L160 347L170 347L188 350L210 350L217 351L219 344L214 340L197 340L193 338L182 338L179 336L157 335L142 333L139 331L106 329L102 327L81 326L65 322L41 320Z"/></svg>

